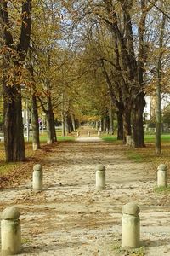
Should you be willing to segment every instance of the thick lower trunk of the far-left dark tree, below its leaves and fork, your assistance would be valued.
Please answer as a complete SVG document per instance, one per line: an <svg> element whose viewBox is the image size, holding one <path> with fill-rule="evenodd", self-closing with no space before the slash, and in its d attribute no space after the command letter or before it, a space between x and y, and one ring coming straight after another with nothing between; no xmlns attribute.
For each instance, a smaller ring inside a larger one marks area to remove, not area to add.
<svg viewBox="0 0 170 256"><path fill-rule="evenodd" d="M4 144L7 162L26 160L20 87L3 80Z"/></svg>

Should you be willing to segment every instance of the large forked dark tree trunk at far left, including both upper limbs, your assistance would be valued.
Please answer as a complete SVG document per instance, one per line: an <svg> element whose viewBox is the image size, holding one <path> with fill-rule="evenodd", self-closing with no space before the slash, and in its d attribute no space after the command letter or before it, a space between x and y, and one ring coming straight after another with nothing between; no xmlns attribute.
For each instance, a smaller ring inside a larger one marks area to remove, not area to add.
<svg viewBox="0 0 170 256"><path fill-rule="evenodd" d="M20 84L17 78L20 75L22 61L30 44L31 36L31 0L22 2L22 25L20 41L14 45L14 38L8 18L8 1L0 3L0 22L3 35L3 113L4 113L4 144L7 162L26 160L24 131L22 122L22 104ZM13 67L13 68L12 68ZM13 80L10 79L11 73ZM11 84L11 85L8 85Z"/></svg>

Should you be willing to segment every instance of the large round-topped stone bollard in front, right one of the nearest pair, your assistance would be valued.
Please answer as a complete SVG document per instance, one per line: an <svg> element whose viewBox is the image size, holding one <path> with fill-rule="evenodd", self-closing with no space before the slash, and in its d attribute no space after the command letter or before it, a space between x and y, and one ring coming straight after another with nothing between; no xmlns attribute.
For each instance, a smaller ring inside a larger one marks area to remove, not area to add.
<svg viewBox="0 0 170 256"><path fill-rule="evenodd" d="M139 207L127 203L122 207L122 247L140 247Z"/></svg>

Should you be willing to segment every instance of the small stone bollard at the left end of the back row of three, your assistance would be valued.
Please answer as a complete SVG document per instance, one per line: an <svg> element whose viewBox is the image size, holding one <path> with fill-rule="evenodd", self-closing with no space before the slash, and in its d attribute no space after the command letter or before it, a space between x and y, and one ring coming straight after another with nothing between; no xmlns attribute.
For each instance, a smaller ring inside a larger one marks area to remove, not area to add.
<svg viewBox="0 0 170 256"><path fill-rule="evenodd" d="M42 191L42 166L37 164L33 170L33 190Z"/></svg>

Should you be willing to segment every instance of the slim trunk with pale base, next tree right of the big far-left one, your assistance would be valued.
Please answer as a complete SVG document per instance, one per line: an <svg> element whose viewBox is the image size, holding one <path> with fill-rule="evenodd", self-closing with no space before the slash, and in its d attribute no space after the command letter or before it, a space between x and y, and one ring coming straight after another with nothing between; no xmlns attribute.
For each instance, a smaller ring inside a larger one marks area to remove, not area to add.
<svg viewBox="0 0 170 256"><path fill-rule="evenodd" d="M39 139L39 124L38 124L38 113L37 113L37 97L35 93L32 95L32 148L37 150L40 148ZM43 124L42 124L43 125Z"/></svg>

